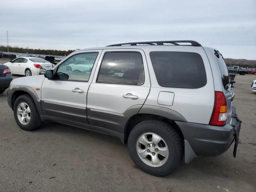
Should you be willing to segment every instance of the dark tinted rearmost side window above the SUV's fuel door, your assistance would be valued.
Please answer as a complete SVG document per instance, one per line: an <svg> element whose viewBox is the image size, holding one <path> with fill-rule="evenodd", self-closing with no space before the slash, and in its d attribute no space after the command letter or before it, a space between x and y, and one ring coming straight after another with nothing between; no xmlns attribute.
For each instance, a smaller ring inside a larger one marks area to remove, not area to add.
<svg viewBox="0 0 256 192"><path fill-rule="evenodd" d="M206 85L204 62L198 53L153 51L150 58L162 87L196 89Z"/></svg>

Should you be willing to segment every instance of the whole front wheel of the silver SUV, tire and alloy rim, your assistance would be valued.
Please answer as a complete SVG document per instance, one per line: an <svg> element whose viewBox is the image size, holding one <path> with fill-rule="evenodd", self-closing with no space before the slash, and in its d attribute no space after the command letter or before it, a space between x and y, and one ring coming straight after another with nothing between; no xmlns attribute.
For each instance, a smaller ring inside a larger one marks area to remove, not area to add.
<svg viewBox="0 0 256 192"><path fill-rule="evenodd" d="M41 124L36 105L29 95L21 95L15 100L13 113L16 123L23 130L35 130Z"/></svg>

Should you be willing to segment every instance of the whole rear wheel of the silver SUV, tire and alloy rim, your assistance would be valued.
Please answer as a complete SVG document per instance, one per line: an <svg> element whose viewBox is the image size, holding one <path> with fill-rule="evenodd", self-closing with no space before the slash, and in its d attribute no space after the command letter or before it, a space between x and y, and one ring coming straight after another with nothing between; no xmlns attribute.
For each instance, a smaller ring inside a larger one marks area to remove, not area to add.
<svg viewBox="0 0 256 192"><path fill-rule="evenodd" d="M176 170L182 160L182 140L176 130L159 120L137 124L128 138L133 162L144 172L166 176Z"/></svg>

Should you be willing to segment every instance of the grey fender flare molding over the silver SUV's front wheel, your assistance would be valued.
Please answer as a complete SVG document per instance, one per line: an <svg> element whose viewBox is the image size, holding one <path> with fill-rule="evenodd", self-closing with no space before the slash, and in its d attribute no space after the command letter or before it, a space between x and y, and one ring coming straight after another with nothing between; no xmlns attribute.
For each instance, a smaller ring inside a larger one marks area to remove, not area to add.
<svg viewBox="0 0 256 192"><path fill-rule="evenodd" d="M40 115L43 115L44 112L42 110L42 106L41 106L41 102L40 102L40 99L38 98L36 92L34 89L32 89L31 87L29 86L23 86L23 85L20 85L20 86L14 86L12 88L13 91L24 91L24 92L27 92L28 94L30 94L30 96L33 98L35 104L36 104L36 108L38 110L38 113ZM12 100L13 100L13 96L12 95ZM13 109L13 106L12 106L12 109Z"/></svg>

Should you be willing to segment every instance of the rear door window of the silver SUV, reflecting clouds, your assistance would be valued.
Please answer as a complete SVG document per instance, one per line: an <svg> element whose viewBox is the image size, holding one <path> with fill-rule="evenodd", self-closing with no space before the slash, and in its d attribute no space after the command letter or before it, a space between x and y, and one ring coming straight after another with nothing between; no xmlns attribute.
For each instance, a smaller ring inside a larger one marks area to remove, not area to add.
<svg viewBox="0 0 256 192"><path fill-rule="evenodd" d="M144 68L139 52L106 52L102 59L98 83L144 84Z"/></svg>

